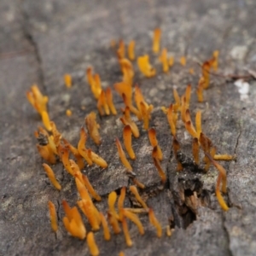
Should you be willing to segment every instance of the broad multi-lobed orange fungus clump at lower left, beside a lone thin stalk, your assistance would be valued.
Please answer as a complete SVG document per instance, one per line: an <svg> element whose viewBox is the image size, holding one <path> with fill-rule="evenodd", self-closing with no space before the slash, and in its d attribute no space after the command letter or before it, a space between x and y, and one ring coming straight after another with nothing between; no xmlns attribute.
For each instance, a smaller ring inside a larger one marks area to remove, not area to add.
<svg viewBox="0 0 256 256"><path fill-rule="evenodd" d="M78 208L77 207L70 208L66 201L63 204L63 208L67 215L64 218L62 218L63 224L66 230L72 236L79 237L79 239L83 240L84 237L86 236L86 230L85 230L84 223L82 221Z"/></svg>

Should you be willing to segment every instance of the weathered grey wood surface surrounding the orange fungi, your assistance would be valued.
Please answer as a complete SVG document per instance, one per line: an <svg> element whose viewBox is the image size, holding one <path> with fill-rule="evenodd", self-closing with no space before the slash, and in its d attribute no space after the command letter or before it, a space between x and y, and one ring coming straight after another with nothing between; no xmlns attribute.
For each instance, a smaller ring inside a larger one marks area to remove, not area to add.
<svg viewBox="0 0 256 256"><path fill-rule="evenodd" d="M225 200L230 211L222 212L214 196L218 172L200 175L203 189L212 199L211 205L201 207L196 220L187 229L177 214L175 201L175 160L172 137L166 118L155 108L151 125L157 130L160 146L165 153L163 167L169 182L160 193L148 197L163 225L175 217L175 231L171 238L156 238L144 216L145 236L139 236L131 225L134 246L127 248L122 235L103 241L102 231L96 241L102 255L255 255L256 253L256 174L255 174L255 82L251 83L247 101L241 102L237 88L223 78L212 78L211 88L205 93L206 102L199 104L195 97L199 67L193 58L204 61L214 49L220 50L222 73L245 73L244 68L256 67L256 3L247 1L59 1L59 0L2 0L0 2L0 255L87 255L85 241L67 235L60 220L60 230L53 234L49 225L47 202L58 206L67 199L72 205L78 198L71 177L61 165L54 166L63 189L55 191L44 175L43 160L39 157L32 136L41 125L38 114L26 102L25 92L32 83L49 96L49 115L64 137L72 143L79 139L79 128L84 116L96 110L84 70L89 65L101 74L103 86L119 81L121 73L115 54L109 47L112 38L137 41L137 54L151 52L151 32L160 26L162 45L175 56L190 56L187 67L175 65L169 74L160 72L154 79L144 79L137 73L148 102L155 107L172 102L172 88L183 93L188 83L193 84L191 110L202 109L203 130L218 147L219 153L236 154L236 161L224 163L228 171L229 193ZM238 54L236 54L238 53ZM154 60L156 58L154 57ZM195 76L189 75L195 68ZM62 83L63 73L72 73L73 88ZM114 96L117 107L122 103ZM82 110L82 106L85 107ZM65 111L71 108L73 116ZM97 191L104 200L97 203L106 211L107 195L113 189L127 186L125 169L120 165L114 138L121 137L121 125L116 117L103 118L103 143L94 148L105 158L109 167L86 168ZM135 142L138 154L133 164L137 177L148 190L158 186L159 178L150 159L147 133ZM180 131L178 137L183 153L191 155L191 140ZM90 142L93 147L93 143ZM147 193L145 193L147 194ZM126 202L131 206L131 201Z"/></svg>

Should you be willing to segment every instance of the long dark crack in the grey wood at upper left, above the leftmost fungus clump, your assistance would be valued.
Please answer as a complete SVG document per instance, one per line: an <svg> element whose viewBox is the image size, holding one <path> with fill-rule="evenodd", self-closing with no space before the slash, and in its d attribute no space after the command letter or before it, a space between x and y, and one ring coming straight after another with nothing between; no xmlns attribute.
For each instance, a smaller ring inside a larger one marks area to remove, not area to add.
<svg viewBox="0 0 256 256"><path fill-rule="evenodd" d="M22 30L24 34L24 38L26 38L26 41L28 44L30 44L30 47L33 49L33 53L35 55L35 59L37 61L38 65L38 83L43 87L44 94L47 94L47 88L44 83L44 70L42 67L42 59L41 55L38 49L38 44L35 40L35 38L32 35L31 32L31 26L30 26L30 18L26 14L26 11L23 9L22 2L20 2L20 15L22 17Z"/></svg>

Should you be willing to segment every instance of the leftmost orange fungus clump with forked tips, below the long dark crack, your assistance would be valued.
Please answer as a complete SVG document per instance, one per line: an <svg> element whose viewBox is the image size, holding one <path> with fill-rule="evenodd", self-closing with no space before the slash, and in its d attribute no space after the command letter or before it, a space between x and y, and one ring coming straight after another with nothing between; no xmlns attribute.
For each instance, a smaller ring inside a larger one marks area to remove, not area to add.
<svg viewBox="0 0 256 256"><path fill-rule="evenodd" d="M38 113L47 112L48 96L44 96L38 88L37 84L32 85L31 90L26 92L28 102L32 104Z"/></svg>

